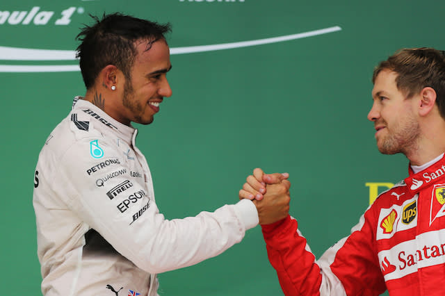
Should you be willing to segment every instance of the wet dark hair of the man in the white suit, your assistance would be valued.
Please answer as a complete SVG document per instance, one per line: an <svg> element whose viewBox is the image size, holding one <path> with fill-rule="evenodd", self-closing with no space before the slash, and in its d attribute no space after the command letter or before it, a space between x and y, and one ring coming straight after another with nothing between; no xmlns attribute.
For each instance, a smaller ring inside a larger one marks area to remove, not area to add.
<svg viewBox="0 0 445 296"><path fill-rule="evenodd" d="M131 67L136 58L138 40L147 40L147 50L153 42L165 41L165 33L171 31L170 24L158 24L129 15L113 13L95 20L92 26L85 25L76 36L81 41L76 49L83 82L86 88L95 84L99 72L107 65L115 65L125 78L131 79ZM166 41L165 41L166 42Z"/></svg>

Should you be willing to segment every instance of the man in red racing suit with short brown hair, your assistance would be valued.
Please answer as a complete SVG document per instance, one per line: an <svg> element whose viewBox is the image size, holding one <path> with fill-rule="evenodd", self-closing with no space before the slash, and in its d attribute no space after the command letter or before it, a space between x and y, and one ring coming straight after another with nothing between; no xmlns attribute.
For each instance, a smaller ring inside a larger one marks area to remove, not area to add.
<svg viewBox="0 0 445 296"><path fill-rule="evenodd" d="M368 119L382 154L410 160L409 176L318 261L293 217L263 225L286 295L445 295L444 81L444 51L435 49L403 49L375 68ZM275 174L253 175L240 198L282 186Z"/></svg>

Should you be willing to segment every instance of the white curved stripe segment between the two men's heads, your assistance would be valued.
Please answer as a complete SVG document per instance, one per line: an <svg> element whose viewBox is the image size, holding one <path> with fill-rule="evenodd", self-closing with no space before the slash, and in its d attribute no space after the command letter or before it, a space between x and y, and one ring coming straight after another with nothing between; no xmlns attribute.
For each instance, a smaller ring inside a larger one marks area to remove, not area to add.
<svg viewBox="0 0 445 296"><path fill-rule="evenodd" d="M250 40L250 41L242 41L242 42L232 42L232 43L223 43L223 44L200 45L200 46L196 46L196 47L175 47L175 48L170 49L170 54L192 54L195 52L202 52L202 51L216 51L216 50L220 50L220 49L235 49L235 48L239 48L239 47L253 47L255 45L301 39L301 38L306 38L306 37L311 37L311 36L316 36L316 35L323 35L323 34L337 32L337 31L341 31L341 28L339 26L332 26L330 28L322 28L322 29L316 30L316 31L309 31L309 32L305 32L305 33L298 33L298 34L286 35L286 36L280 36L280 37L274 37L274 38L266 38L266 39Z"/></svg>

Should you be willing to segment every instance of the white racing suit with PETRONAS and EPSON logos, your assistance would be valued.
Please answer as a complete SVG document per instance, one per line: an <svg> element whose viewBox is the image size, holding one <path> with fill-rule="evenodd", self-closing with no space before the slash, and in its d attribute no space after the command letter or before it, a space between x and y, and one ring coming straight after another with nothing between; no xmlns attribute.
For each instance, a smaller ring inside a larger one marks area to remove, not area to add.
<svg viewBox="0 0 445 296"><path fill-rule="evenodd" d="M157 295L157 273L216 256L257 225L246 199L165 220L136 133L76 97L47 138L33 196L44 295Z"/></svg>

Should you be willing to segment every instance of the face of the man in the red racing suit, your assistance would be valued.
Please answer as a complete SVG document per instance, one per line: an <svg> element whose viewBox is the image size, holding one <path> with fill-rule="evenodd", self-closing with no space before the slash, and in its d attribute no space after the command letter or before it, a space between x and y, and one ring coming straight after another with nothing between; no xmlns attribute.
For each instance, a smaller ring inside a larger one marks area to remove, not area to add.
<svg viewBox="0 0 445 296"><path fill-rule="evenodd" d="M414 97L407 99L398 90L398 74L382 70L375 79L373 106L368 119L374 122L377 147L382 154L410 154L418 149L421 134Z"/></svg>

